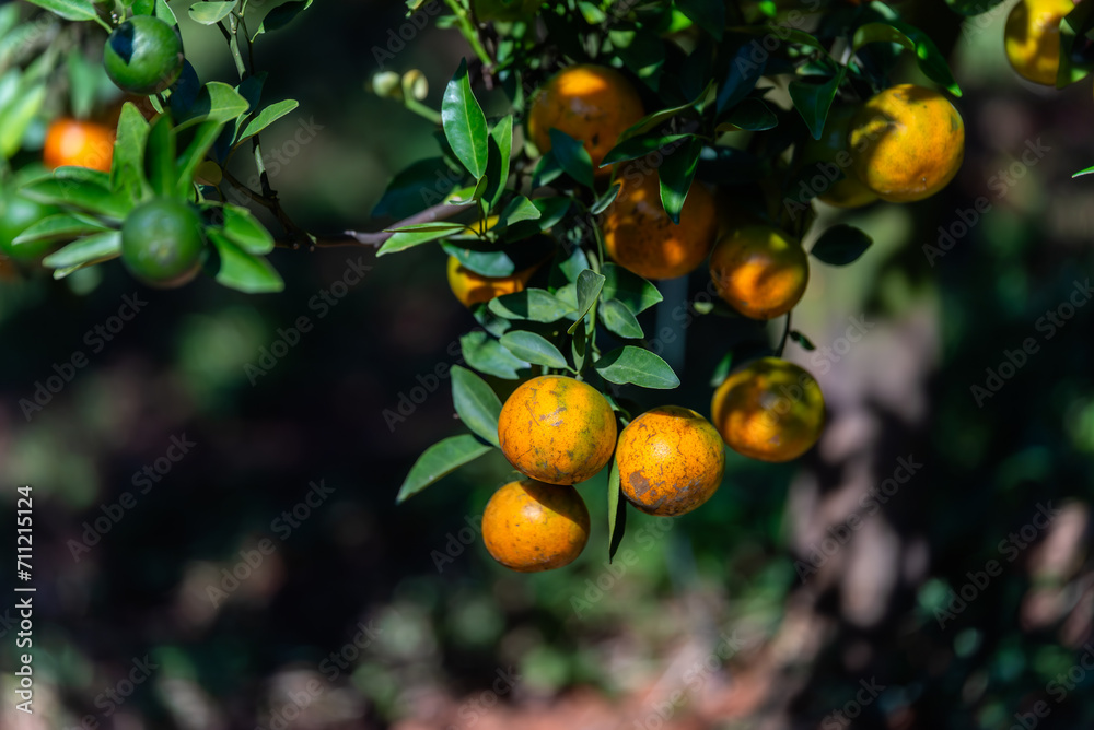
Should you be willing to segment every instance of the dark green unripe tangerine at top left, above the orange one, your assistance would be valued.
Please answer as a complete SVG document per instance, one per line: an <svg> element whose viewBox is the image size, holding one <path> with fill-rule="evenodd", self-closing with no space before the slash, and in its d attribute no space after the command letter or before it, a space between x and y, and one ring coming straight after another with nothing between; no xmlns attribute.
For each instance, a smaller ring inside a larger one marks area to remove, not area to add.
<svg viewBox="0 0 1094 730"><path fill-rule="evenodd" d="M103 64L118 89L146 96L175 83L183 72L183 42L171 25L136 15L106 39Z"/></svg>

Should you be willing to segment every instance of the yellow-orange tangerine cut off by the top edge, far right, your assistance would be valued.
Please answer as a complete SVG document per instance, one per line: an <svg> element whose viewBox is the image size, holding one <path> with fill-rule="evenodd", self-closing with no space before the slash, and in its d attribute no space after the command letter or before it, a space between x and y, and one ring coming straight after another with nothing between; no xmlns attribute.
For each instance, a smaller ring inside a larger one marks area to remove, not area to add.
<svg viewBox="0 0 1094 730"><path fill-rule="evenodd" d="M1006 60L1027 81L1055 86L1060 70L1060 23L1074 10L1071 0L1022 0L1003 31Z"/></svg>

